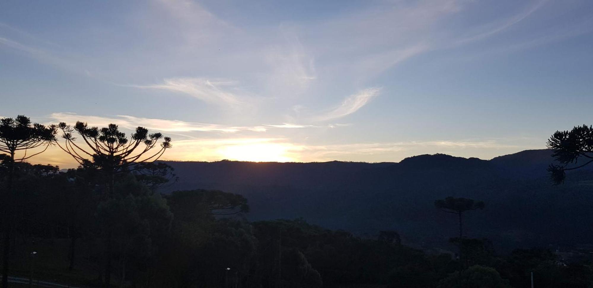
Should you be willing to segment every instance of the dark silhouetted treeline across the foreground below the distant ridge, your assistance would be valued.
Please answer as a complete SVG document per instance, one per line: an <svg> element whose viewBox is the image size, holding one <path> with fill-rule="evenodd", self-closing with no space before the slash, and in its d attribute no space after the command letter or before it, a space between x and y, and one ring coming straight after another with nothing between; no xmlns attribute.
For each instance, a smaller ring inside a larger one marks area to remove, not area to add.
<svg viewBox="0 0 593 288"><path fill-rule="evenodd" d="M53 128L76 140L65 124ZM537 287L593 283L591 257L568 261L543 248L497 254L488 239L464 235L461 213L482 209L481 201L435 203L459 217L451 227L459 237L449 240L457 253L407 247L396 231L361 238L304 219L250 222L241 194L200 187L161 194L177 180L173 168L153 162L158 157L126 161L138 155L130 147L142 143L148 152L162 135L137 129L125 140L117 126L84 123L75 130L96 148L90 160L76 155L77 169L0 158L11 276L120 287L528 287L531 273ZM164 140L157 154L171 147ZM72 143L62 145L73 153Z"/></svg>

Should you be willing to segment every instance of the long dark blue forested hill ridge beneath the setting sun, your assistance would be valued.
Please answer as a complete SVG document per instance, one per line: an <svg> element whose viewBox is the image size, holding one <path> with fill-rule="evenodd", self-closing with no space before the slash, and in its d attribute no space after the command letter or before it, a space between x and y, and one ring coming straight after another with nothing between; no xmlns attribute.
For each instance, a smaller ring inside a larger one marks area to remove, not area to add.
<svg viewBox="0 0 593 288"><path fill-rule="evenodd" d="M492 160L444 154L399 163L167 162L180 181L168 191L206 188L247 197L251 220L304 217L362 236L393 229L412 245L443 247L456 219L433 207L447 196L486 201L467 215L468 236L499 249L583 245L593 241L593 171L576 171L553 186L549 150Z"/></svg>

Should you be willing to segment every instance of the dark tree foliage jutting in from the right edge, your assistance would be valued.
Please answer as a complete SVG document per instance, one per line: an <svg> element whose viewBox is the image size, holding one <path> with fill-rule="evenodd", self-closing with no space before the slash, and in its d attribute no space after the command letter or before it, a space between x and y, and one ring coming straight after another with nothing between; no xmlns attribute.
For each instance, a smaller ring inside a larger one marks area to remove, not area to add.
<svg viewBox="0 0 593 288"><path fill-rule="evenodd" d="M570 131L556 131L548 139L547 147L560 165L550 164L548 172L554 184L564 183L566 171L593 162L593 126L575 126ZM583 161L579 162L579 159Z"/></svg>

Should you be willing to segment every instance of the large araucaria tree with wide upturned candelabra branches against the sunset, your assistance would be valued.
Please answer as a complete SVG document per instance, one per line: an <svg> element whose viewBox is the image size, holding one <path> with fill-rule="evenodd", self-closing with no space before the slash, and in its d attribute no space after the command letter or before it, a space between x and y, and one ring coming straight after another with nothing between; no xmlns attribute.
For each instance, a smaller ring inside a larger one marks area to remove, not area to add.
<svg viewBox="0 0 593 288"><path fill-rule="evenodd" d="M71 155L80 165L95 167L106 177L107 189L103 194L103 200L107 201L113 197L114 178L116 174L130 171L135 165L154 162L162 156L168 148L171 148L171 138L163 137L161 133L148 133L148 129L137 127L136 132L130 135L120 132L116 124L109 124L107 127L88 127L87 123L78 121L74 128L66 123L59 123L58 129L62 131L64 143L58 146ZM80 145L76 143L76 137L72 134L77 132L82 137ZM162 141L161 141L162 139ZM160 143L159 146L157 146ZM157 148L154 151L153 148ZM111 283L111 235L112 231L106 233L106 252L104 286L109 287Z"/></svg>

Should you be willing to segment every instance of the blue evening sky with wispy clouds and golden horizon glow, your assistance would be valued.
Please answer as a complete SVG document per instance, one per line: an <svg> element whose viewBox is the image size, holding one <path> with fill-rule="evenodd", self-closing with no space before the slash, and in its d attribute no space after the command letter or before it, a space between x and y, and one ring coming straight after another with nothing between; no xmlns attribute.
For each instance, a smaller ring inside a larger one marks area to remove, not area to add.
<svg viewBox="0 0 593 288"><path fill-rule="evenodd" d="M0 117L182 161L491 159L593 122L592 51L589 0L5 0Z"/></svg>

